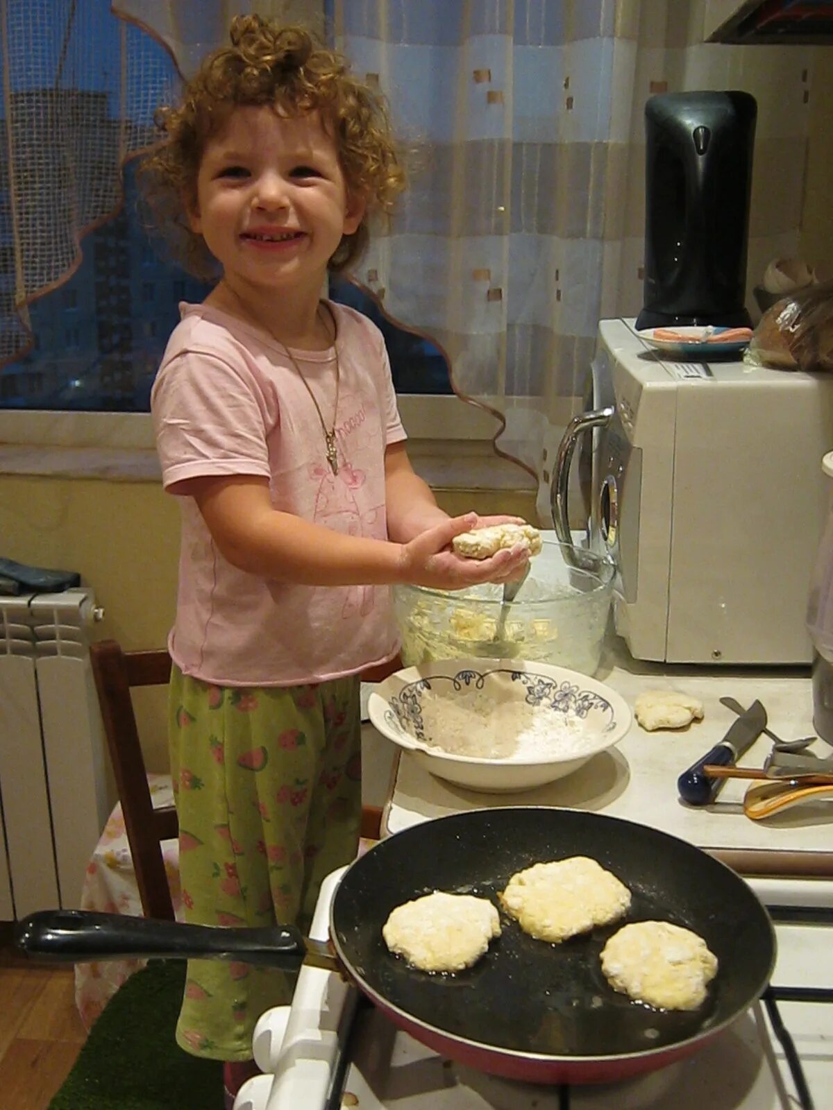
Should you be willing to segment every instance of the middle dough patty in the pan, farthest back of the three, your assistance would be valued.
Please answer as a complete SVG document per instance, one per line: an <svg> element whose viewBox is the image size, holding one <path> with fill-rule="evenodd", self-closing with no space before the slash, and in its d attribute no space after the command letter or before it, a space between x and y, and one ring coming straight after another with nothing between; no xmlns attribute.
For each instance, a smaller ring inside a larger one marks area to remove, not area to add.
<svg viewBox="0 0 833 1110"><path fill-rule="evenodd" d="M499 898L524 932L553 945L618 921L631 905L628 887L588 856L518 871Z"/></svg>

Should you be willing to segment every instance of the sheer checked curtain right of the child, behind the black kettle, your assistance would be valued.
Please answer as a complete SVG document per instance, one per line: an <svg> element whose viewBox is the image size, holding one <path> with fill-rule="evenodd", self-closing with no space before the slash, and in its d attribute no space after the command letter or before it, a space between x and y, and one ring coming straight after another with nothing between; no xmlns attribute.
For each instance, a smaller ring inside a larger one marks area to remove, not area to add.
<svg viewBox="0 0 833 1110"><path fill-rule="evenodd" d="M759 103L750 286L797 243L812 52L703 43L704 0L335 0L416 152L363 280L434 335L456 390L501 412L539 476L589 384L598 322L642 305L644 132L655 92Z"/></svg>

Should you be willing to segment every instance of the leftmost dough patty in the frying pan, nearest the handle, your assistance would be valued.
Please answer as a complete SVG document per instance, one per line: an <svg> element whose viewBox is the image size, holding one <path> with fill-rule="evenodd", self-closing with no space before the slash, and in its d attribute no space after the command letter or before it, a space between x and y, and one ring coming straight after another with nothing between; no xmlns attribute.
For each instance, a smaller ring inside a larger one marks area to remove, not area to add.
<svg viewBox="0 0 833 1110"><path fill-rule="evenodd" d="M488 898L441 890L397 906L382 927L388 948L421 971L470 968L500 935L500 917Z"/></svg>

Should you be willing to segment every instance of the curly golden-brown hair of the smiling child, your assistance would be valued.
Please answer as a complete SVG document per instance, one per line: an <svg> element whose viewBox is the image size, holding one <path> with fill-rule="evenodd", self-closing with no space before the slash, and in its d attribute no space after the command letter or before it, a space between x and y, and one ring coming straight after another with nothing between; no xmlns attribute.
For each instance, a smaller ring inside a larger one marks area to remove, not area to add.
<svg viewBox="0 0 833 1110"><path fill-rule="evenodd" d="M405 174L382 94L350 72L348 61L301 26L260 16L231 22L231 47L209 54L187 83L177 107L160 108L161 140L142 159L140 182L153 222L174 259L197 278L217 275L217 262L188 212L197 201L197 176L207 142L239 105L271 104L281 113L319 112L335 141L348 193L367 204L359 228L343 235L330 259L347 270L364 252L374 214L389 214Z"/></svg>

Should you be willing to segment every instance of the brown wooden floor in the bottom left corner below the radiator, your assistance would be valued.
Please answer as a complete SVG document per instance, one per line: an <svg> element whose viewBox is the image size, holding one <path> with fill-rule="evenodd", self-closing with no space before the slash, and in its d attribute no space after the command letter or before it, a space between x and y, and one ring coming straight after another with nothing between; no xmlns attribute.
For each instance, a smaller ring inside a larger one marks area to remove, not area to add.
<svg viewBox="0 0 833 1110"><path fill-rule="evenodd" d="M9 1110L47 1110L86 1032L72 967L32 965L0 929L0 1091Z"/></svg>

